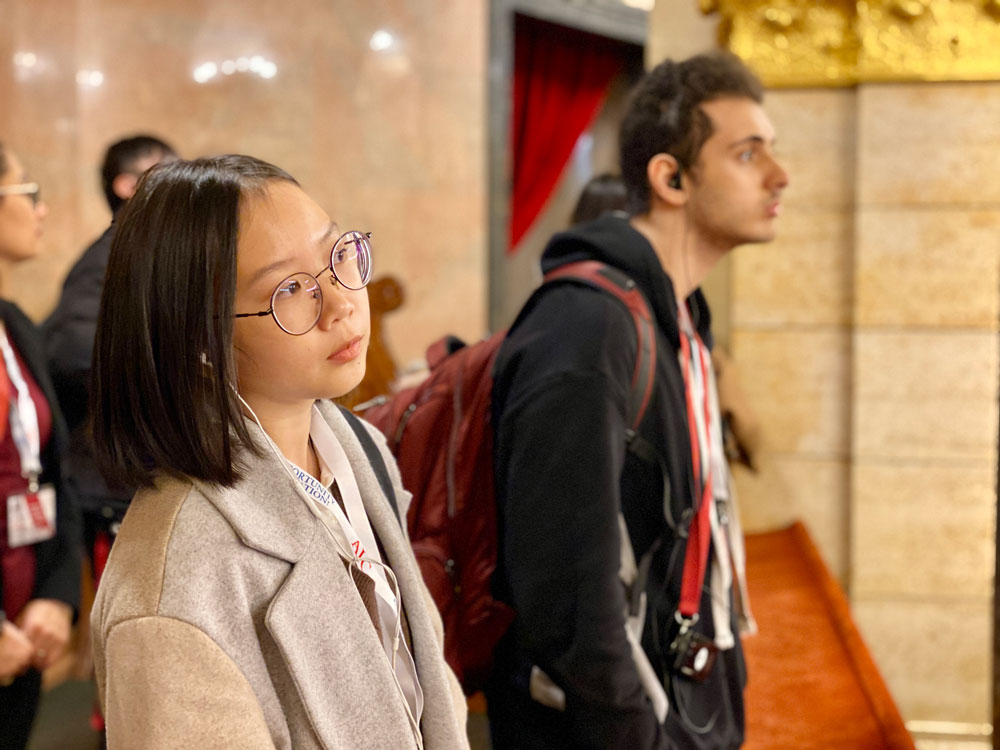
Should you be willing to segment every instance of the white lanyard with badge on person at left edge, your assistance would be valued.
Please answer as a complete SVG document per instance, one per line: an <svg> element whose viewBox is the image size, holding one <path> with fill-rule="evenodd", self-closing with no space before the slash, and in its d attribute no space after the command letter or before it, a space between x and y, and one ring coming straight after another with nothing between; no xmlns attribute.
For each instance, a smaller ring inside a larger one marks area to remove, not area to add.
<svg viewBox="0 0 1000 750"><path fill-rule="evenodd" d="M38 412L31 391L17 363L7 330L0 324L0 351L7 377L14 389L8 419L10 435L21 462L21 476L27 492L7 497L7 545L24 547L51 539L56 533L56 491L51 485L38 486L42 473L41 434Z"/></svg>

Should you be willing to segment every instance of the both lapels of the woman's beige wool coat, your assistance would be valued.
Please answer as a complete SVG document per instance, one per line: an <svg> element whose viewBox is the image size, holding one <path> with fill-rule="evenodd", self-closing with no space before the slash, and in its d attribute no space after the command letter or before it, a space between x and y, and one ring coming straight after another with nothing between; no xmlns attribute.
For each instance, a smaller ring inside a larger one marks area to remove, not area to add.
<svg viewBox="0 0 1000 750"><path fill-rule="evenodd" d="M320 402L319 407L347 454L365 511L385 550L385 562L399 584L424 692L424 746L464 747L464 733L456 731L441 644L409 540L350 425L333 404ZM404 701L354 581L326 530L297 494L294 478L282 469L260 429L254 424L248 428L263 456L243 453L244 478L235 487L199 483L199 489L244 544L292 563L271 601L265 625L292 675L312 729L327 748L404 747L402 738L410 734ZM388 456L384 438L377 433L373 437ZM388 468L405 517L410 495L400 489L391 458ZM355 731L348 734L347 727Z"/></svg>

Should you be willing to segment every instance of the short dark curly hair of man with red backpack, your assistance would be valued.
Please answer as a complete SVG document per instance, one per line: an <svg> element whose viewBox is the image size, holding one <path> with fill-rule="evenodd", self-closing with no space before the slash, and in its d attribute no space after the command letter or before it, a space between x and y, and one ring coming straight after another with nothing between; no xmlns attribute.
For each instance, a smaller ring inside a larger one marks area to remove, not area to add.
<svg viewBox="0 0 1000 750"><path fill-rule="evenodd" d="M657 154L670 154L689 170L712 135L704 102L727 97L764 100L760 80L729 52L708 52L683 62L664 60L640 79L630 95L619 135L628 212L649 210L646 167Z"/></svg>

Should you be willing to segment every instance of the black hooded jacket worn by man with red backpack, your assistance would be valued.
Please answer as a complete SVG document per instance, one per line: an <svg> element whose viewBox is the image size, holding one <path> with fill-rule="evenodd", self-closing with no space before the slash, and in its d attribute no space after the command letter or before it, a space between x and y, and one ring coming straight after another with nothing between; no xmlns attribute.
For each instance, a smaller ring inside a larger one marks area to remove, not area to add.
<svg viewBox="0 0 1000 750"><path fill-rule="evenodd" d="M693 478L673 285L649 242L622 218L598 219L556 235L542 270L585 259L628 274L652 311L656 381L639 433L664 462L670 513L679 519L691 507ZM701 292L688 304L702 340L711 346ZM665 517L661 469L626 450L636 349L635 326L617 300L564 283L529 300L494 367L501 545L495 592L514 606L517 618L498 649L488 697L491 719L523 722L507 734L519 738L511 746L703 750L736 748L743 741L746 673L738 638L735 648L720 654L706 682L670 680L663 725L626 640L619 510L637 558L658 539L661 543L646 586L642 644L661 680L684 560L684 540L675 537ZM711 637L707 582L701 612L697 629ZM738 632L735 619L732 627ZM548 715L540 720L536 706L503 711L505 701L517 701L516 692L524 692L525 668L532 664L563 689L564 712L543 709Z"/></svg>

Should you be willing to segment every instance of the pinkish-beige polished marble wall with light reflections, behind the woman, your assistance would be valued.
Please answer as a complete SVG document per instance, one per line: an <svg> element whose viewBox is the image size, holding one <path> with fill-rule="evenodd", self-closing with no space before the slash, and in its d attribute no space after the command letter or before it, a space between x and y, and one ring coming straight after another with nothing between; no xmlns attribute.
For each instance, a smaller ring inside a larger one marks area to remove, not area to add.
<svg viewBox="0 0 1000 750"><path fill-rule="evenodd" d="M273 161L371 230L376 273L406 288L387 318L400 361L482 335L487 17L486 0L0 0L0 140L51 208L9 296L52 308L109 219L104 148L150 131L187 157Z"/></svg>

